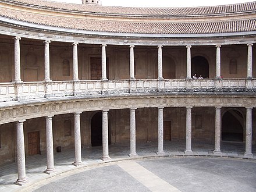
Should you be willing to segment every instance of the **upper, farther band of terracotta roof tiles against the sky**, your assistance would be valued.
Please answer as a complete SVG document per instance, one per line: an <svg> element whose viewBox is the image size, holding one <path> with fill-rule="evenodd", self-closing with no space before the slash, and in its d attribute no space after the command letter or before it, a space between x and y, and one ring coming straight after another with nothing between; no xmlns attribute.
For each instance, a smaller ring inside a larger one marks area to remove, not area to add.
<svg viewBox="0 0 256 192"><path fill-rule="evenodd" d="M110 7L91 6L74 3L60 3L42 0L2 0L6 2L24 3L27 5L42 6L46 8L76 10L88 13L105 13L117 15L145 15L145 16L188 16L188 15L212 15L248 12L256 10L256 1L239 3L233 5L205 6L195 8L131 8L131 7Z"/></svg>

